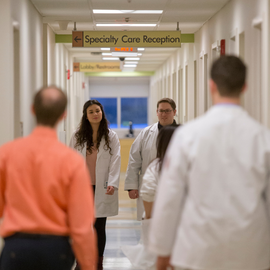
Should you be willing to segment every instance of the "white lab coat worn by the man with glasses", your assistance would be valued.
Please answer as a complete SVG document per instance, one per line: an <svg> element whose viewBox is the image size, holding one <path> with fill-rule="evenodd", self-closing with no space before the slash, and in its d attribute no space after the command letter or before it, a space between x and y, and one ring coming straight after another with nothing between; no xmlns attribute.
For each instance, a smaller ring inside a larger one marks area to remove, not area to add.
<svg viewBox="0 0 270 270"><path fill-rule="evenodd" d="M143 129L133 142L126 172L125 190L140 190L142 178L149 163L157 156L156 141L158 123ZM137 199L137 219L141 220L144 212L141 196Z"/></svg>

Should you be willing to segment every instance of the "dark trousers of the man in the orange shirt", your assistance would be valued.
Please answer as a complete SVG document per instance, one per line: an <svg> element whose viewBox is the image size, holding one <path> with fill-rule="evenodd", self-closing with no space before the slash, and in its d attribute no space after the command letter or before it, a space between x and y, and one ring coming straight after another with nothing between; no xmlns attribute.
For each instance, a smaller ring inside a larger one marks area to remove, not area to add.
<svg viewBox="0 0 270 270"><path fill-rule="evenodd" d="M1 270L71 270L74 255L68 237L13 235L5 238Z"/></svg>

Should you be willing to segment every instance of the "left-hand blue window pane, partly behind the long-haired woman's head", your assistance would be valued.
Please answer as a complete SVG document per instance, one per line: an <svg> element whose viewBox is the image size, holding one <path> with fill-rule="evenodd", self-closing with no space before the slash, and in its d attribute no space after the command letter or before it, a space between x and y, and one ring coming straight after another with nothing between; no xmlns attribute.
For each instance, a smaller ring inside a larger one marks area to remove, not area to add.
<svg viewBox="0 0 270 270"><path fill-rule="evenodd" d="M117 128L117 98L91 97L91 99L96 99L102 104L110 128Z"/></svg>

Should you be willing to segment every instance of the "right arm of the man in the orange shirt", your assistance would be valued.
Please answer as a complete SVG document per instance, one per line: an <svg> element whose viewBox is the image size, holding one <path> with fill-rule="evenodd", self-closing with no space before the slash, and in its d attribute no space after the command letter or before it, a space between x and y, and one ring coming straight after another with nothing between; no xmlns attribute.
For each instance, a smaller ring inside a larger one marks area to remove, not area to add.
<svg viewBox="0 0 270 270"><path fill-rule="evenodd" d="M96 270L97 240L91 181L83 159L73 164L74 170L67 194L68 224L72 247L82 270Z"/></svg>

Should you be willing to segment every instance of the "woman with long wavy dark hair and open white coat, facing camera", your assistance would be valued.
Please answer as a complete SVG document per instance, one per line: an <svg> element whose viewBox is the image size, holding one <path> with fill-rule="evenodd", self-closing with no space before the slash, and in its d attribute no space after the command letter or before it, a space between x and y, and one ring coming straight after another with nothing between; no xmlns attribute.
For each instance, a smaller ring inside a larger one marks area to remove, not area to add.
<svg viewBox="0 0 270 270"><path fill-rule="evenodd" d="M84 104L83 116L72 135L70 147L83 155L91 176L95 193L98 269L103 269L107 217L118 214L120 143L117 134L108 128L103 106L97 100ZM80 269L78 265L76 269Z"/></svg>

